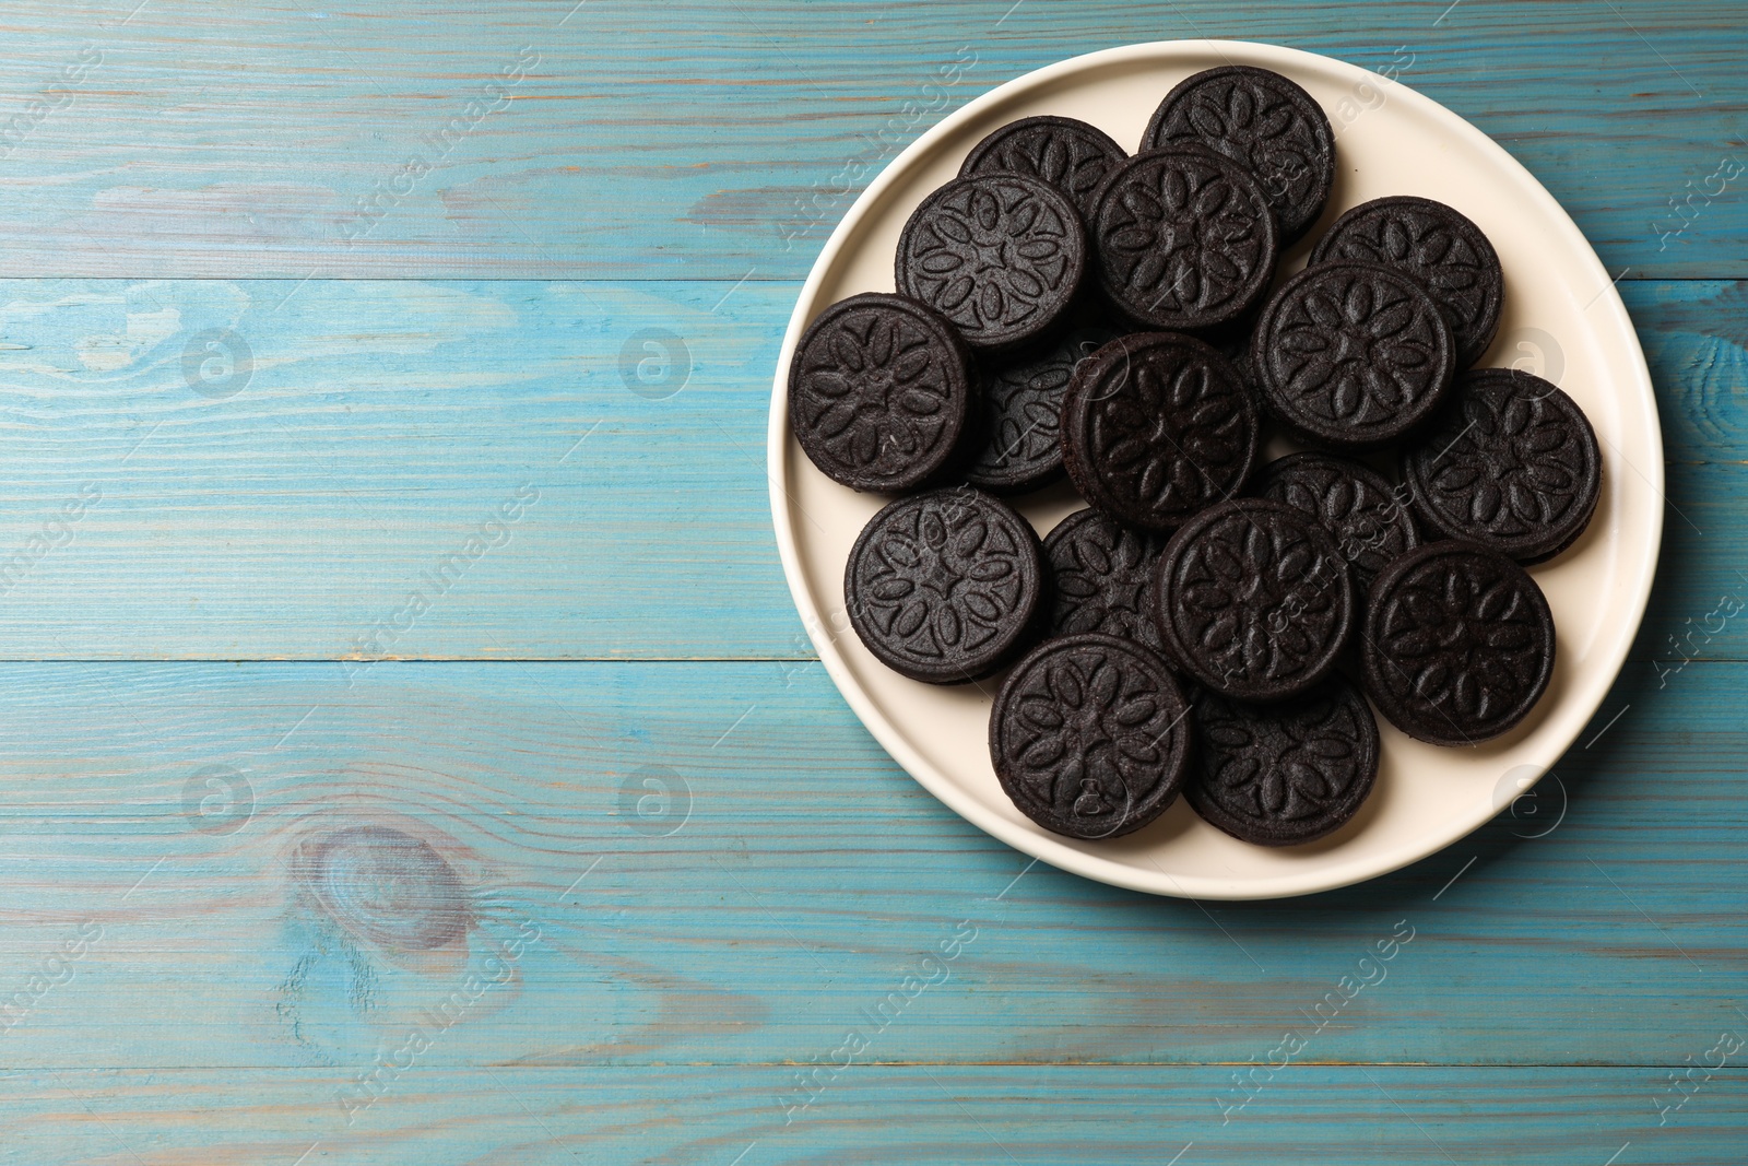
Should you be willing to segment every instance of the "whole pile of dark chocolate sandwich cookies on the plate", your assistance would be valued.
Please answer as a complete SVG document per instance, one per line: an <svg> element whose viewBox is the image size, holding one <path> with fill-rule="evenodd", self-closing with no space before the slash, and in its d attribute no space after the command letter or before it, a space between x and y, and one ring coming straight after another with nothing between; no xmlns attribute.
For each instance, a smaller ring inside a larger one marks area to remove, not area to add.
<svg viewBox="0 0 1748 1166"><path fill-rule="evenodd" d="M790 421L853 489L907 495L850 554L851 626L928 684L1009 670L1002 787L1080 839L1183 792L1288 846L1372 788L1372 708L1435 745L1509 732L1547 689L1554 622L1524 565L1601 489L1582 409L1472 367L1505 281L1425 198L1325 212L1335 142L1278 73L1176 86L1133 157L1028 117L907 222L897 295L825 309ZM1267 465L1269 432L1302 448ZM1042 544L1002 496L1087 502ZM1369 699L1367 699L1369 698Z"/></svg>

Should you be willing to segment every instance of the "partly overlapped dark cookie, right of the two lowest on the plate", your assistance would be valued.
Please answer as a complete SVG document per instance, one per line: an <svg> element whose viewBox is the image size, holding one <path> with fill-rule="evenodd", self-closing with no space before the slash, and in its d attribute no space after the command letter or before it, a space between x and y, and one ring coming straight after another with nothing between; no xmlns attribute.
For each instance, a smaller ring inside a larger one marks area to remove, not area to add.
<svg viewBox="0 0 1748 1166"><path fill-rule="evenodd" d="M1341 677L1276 704L1203 692L1194 720L1199 764L1183 797L1245 843L1323 837L1358 813L1377 778L1377 722Z"/></svg>

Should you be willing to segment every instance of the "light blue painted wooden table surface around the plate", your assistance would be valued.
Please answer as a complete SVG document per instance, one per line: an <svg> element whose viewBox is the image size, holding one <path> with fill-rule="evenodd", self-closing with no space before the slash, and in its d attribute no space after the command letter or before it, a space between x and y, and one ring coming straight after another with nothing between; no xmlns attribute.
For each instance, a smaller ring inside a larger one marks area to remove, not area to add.
<svg viewBox="0 0 1748 1166"><path fill-rule="evenodd" d="M0 1161L1748 1161L1739 0L136 3L5 10ZM1669 458L1556 792L1280 904L939 806L766 505L865 177L1203 35L1523 159Z"/></svg>

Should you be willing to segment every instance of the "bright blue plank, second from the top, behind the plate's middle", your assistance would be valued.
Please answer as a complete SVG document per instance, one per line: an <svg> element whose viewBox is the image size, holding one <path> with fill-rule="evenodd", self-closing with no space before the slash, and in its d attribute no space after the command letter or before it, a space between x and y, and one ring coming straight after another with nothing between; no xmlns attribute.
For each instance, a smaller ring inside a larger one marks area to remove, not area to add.
<svg viewBox="0 0 1748 1166"><path fill-rule="evenodd" d="M1706 617L1748 598L1748 283L1622 287L1671 460L1636 657L1745 659ZM3 283L0 656L808 657L764 479L794 295Z"/></svg>

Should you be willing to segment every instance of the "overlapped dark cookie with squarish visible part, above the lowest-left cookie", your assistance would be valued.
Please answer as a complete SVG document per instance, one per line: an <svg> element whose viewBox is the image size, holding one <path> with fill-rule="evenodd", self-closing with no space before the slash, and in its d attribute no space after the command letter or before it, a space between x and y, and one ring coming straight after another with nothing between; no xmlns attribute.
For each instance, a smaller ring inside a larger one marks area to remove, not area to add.
<svg viewBox="0 0 1748 1166"><path fill-rule="evenodd" d="M1103 631L1161 650L1154 566L1162 535L1119 526L1098 510L1070 514L1044 540L1051 572L1051 635Z"/></svg>

